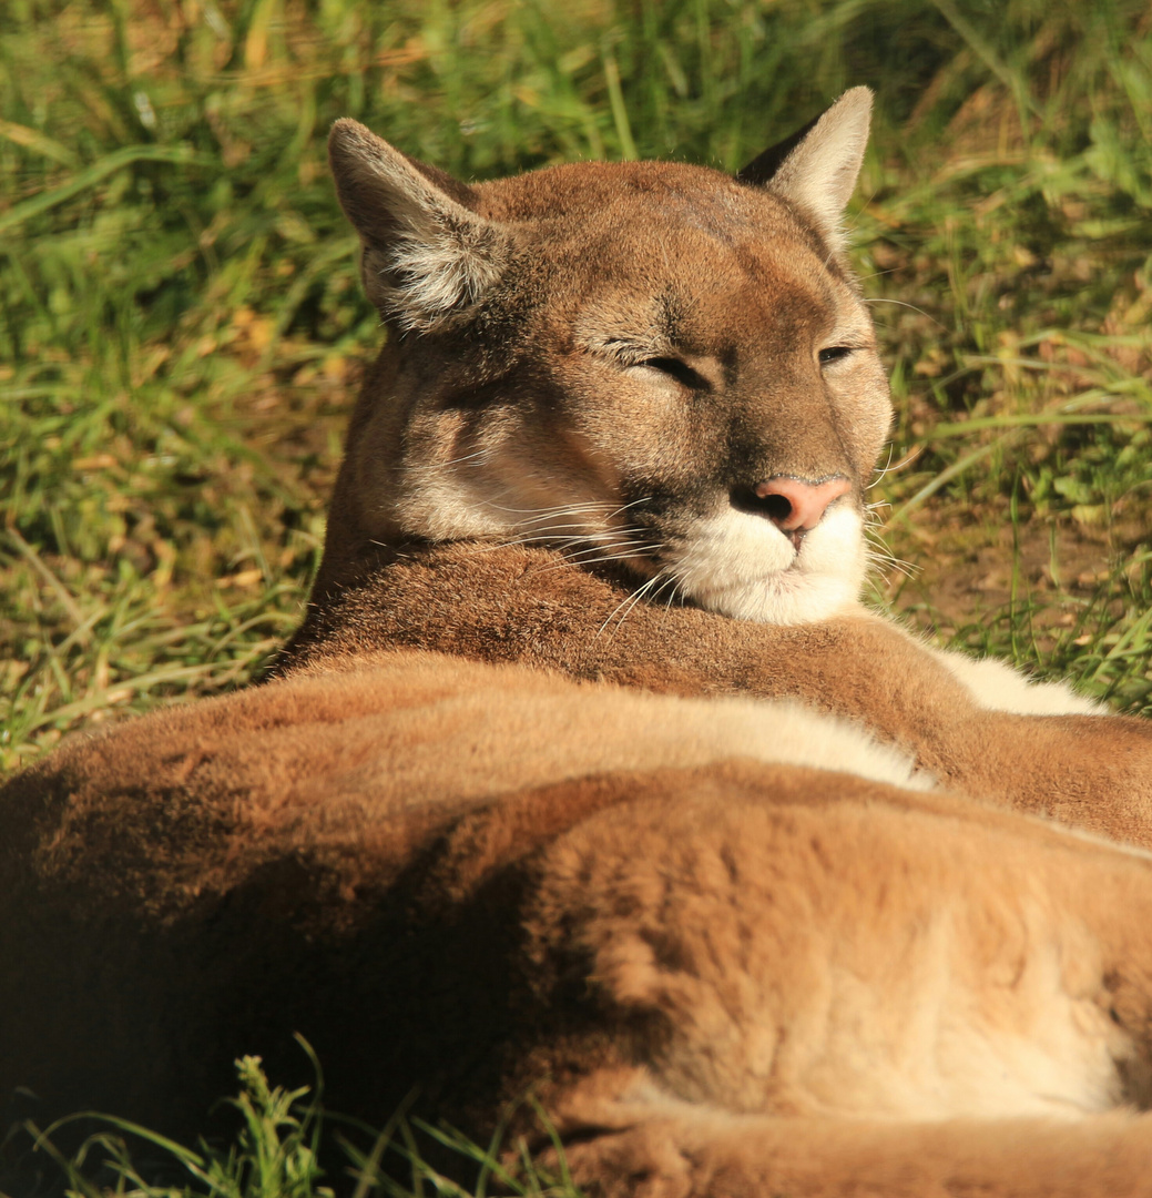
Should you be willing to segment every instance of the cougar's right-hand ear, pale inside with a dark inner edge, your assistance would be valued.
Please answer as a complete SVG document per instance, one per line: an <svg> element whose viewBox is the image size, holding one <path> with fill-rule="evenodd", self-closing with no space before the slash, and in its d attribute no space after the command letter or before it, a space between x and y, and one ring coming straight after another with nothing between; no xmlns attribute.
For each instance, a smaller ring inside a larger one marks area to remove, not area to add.
<svg viewBox="0 0 1152 1198"><path fill-rule="evenodd" d="M872 92L853 87L814 121L753 158L736 179L794 204L833 249L843 249L841 216L856 187L871 119Z"/></svg>

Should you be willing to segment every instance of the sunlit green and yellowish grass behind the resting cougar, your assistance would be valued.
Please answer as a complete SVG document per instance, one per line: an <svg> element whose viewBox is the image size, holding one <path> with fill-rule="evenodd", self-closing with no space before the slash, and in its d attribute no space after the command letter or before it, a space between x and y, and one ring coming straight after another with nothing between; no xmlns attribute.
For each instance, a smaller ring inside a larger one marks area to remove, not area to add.
<svg viewBox="0 0 1152 1198"><path fill-rule="evenodd" d="M323 162L739 167L878 90L899 422L875 599L1152 709L1152 29L1110 0L10 0L0 766L241 685L298 618L378 339ZM1005 573L1005 569L1007 573Z"/></svg>

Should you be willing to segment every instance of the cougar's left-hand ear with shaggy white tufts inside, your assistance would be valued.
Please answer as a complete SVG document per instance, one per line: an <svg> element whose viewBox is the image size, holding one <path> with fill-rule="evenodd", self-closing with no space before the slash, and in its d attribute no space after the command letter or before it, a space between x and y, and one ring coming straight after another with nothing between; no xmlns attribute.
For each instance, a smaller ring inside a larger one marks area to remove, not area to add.
<svg viewBox="0 0 1152 1198"><path fill-rule="evenodd" d="M328 158L340 207L363 243L364 290L387 321L429 332L499 279L509 238L473 211L465 183L350 120L333 125Z"/></svg>

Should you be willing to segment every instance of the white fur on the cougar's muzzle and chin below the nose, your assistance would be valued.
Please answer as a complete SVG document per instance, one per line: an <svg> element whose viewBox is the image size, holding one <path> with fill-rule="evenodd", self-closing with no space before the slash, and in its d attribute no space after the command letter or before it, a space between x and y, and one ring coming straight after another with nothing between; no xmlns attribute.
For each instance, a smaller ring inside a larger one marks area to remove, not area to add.
<svg viewBox="0 0 1152 1198"><path fill-rule="evenodd" d="M837 507L800 552L763 516L726 512L693 522L690 540L665 559L683 594L702 607L762 624L812 624L850 606L865 577L863 524Z"/></svg>

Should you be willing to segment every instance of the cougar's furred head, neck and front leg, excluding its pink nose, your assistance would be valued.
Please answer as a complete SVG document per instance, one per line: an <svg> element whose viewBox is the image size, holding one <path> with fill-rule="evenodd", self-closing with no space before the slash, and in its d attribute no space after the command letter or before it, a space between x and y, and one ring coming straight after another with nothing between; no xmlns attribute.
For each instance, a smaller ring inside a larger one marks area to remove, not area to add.
<svg viewBox="0 0 1152 1198"><path fill-rule="evenodd" d="M398 338L370 374L283 668L412 646L680 695L794 696L950 786L1152 847L1146 722L939 654L859 604L890 406L835 230L867 115L867 92L848 92L736 181L593 163L474 187L419 168L414 189L365 182L374 164L413 167L338 122L336 186L369 277L380 213L430 181L442 190L424 202L466 205L503 265L483 300ZM836 346L854 349L821 364ZM699 386L637 364L660 358ZM777 476L851 484L799 550L750 498Z"/></svg>

